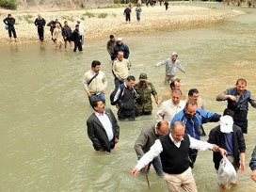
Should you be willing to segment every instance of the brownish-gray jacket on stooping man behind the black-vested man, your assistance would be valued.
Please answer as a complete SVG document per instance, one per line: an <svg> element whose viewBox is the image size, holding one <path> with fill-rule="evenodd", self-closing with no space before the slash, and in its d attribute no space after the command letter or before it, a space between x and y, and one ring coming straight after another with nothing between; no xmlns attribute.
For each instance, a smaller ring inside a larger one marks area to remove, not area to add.
<svg viewBox="0 0 256 192"><path fill-rule="evenodd" d="M144 153L149 152L154 141L158 138L159 136L155 134L155 123L150 127L143 128L136 138L135 150L137 158L140 159Z"/></svg>

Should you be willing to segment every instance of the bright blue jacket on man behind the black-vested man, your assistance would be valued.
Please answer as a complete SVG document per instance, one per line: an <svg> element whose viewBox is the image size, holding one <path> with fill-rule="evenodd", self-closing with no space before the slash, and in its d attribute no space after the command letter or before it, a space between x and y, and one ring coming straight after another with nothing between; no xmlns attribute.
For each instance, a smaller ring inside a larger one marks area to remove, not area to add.
<svg viewBox="0 0 256 192"><path fill-rule="evenodd" d="M198 108L193 118L189 118L185 114L185 110L180 111L170 121L170 124L175 121L183 121L185 125L185 133L193 138L200 139L200 125L206 122L217 122L219 118L220 115L214 112Z"/></svg>

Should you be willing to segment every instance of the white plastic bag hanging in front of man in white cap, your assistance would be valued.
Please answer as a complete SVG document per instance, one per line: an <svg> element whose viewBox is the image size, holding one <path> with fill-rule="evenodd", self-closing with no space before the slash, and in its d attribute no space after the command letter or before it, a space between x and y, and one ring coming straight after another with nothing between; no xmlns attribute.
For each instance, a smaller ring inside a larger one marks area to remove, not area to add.
<svg viewBox="0 0 256 192"><path fill-rule="evenodd" d="M217 183L221 184L231 184L236 181L236 171L232 166L232 163L223 157L219 163L219 168L217 170Z"/></svg>

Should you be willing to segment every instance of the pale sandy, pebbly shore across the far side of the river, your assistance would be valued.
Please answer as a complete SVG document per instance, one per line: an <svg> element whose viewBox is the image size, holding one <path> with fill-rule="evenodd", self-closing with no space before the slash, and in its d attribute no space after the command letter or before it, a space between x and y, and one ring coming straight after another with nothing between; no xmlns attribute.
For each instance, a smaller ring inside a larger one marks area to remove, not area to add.
<svg viewBox="0 0 256 192"><path fill-rule="evenodd" d="M85 24L86 38L93 40L96 38L107 38L110 34L133 34L153 31L163 31L171 29L195 28L204 24L213 24L228 18L245 14L245 12L234 9L220 9L211 6L210 8L192 7L189 4L170 6L168 11L165 8L156 6L154 8L142 8L141 22L136 22L136 12L133 8L131 24L125 24L122 15L124 8L98 8L98 9L79 9L69 11L40 11L46 22L53 18L58 18L61 24L65 20L74 29L75 21L81 18ZM93 14L94 17L88 18L86 13ZM8 10L0 10L0 20L6 18ZM19 43L30 43L39 41L37 28L33 24L38 12L31 11L12 11L12 16L16 19L16 32ZM106 13L105 18L99 18L101 13ZM4 24L0 27L0 44L8 43L8 31ZM50 40L49 27L45 27L45 40Z"/></svg>

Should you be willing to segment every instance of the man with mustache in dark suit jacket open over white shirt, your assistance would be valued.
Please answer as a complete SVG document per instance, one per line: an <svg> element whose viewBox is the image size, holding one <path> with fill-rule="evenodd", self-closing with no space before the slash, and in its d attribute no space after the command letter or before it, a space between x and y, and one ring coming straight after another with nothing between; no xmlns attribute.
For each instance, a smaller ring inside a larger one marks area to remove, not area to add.
<svg viewBox="0 0 256 192"><path fill-rule="evenodd" d="M95 112L87 120L88 137L96 151L110 152L119 142L120 126L102 100L92 102L91 106Z"/></svg>

